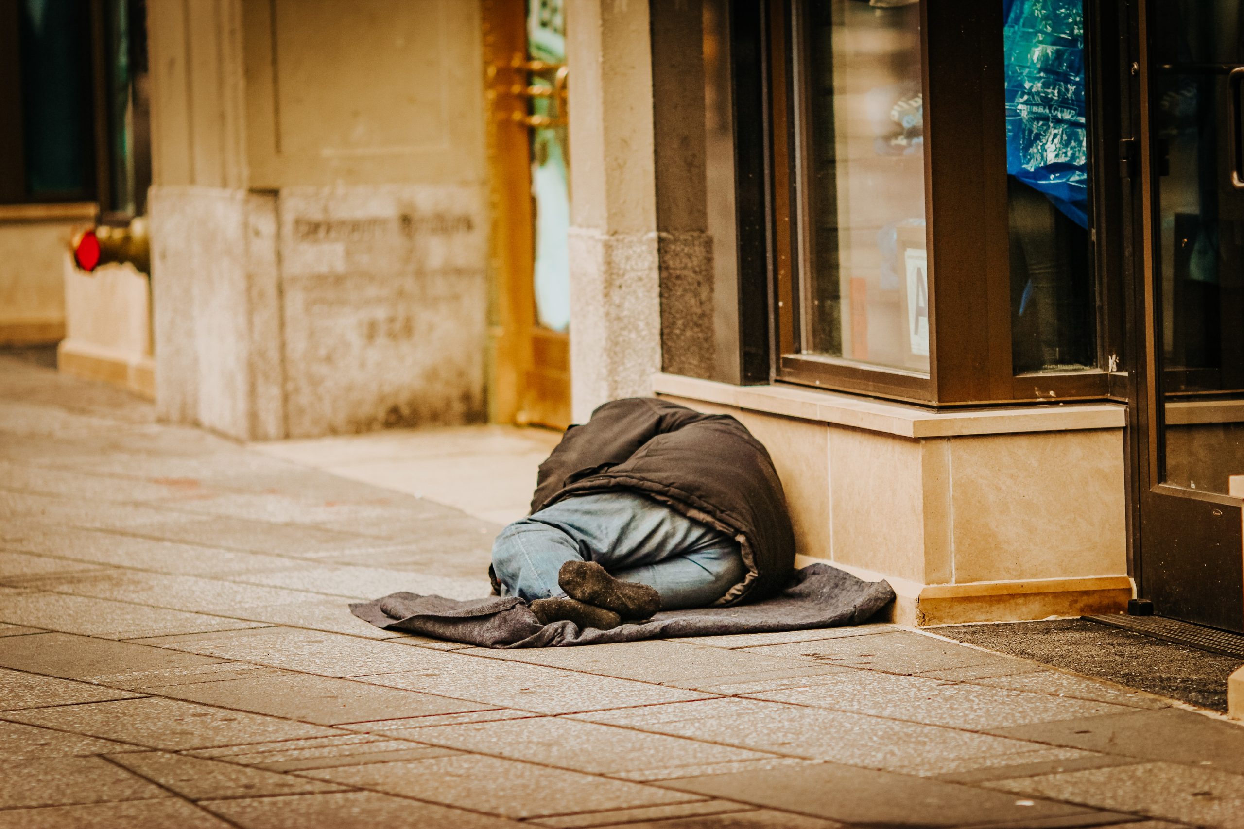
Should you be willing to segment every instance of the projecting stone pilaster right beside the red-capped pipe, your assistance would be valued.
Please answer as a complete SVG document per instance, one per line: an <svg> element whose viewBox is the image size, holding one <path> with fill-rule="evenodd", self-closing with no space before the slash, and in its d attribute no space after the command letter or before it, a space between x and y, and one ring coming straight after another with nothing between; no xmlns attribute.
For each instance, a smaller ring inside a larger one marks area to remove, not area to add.
<svg viewBox="0 0 1244 829"><path fill-rule="evenodd" d="M271 326L251 324L272 314L275 300L251 290L249 252L264 241L271 247L275 235L262 232L270 204L254 205L259 227L249 221L250 203L271 199L246 191L241 15L240 0L156 2L148 11L156 405L163 420L276 437L280 398L275 410L256 399L280 342Z"/></svg>

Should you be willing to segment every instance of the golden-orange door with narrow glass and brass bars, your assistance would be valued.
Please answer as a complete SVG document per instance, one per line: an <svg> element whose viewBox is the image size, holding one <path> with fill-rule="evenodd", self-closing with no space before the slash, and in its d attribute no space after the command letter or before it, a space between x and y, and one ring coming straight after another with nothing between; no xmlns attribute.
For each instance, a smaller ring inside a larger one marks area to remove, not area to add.
<svg viewBox="0 0 1244 829"><path fill-rule="evenodd" d="M485 0L491 419L570 424L570 147L561 0Z"/></svg>

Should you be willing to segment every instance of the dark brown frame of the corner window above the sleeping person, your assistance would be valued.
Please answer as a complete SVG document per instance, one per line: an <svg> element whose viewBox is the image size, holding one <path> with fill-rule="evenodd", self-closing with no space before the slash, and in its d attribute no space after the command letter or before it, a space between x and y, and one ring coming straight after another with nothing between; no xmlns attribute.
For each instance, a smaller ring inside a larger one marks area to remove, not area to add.
<svg viewBox="0 0 1244 829"><path fill-rule="evenodd" d="M1117 0L1086 2L1087 107L1092 163L1098 369L1016 374L1011 360L1010 241L1003 92L1001 0L921 2L926 240L929 252L928 375L799 353L800 220L791 124L791 15L764 12L769 268L774 382L853 392L928 406L1126 399L1126 326Z"/></svg>

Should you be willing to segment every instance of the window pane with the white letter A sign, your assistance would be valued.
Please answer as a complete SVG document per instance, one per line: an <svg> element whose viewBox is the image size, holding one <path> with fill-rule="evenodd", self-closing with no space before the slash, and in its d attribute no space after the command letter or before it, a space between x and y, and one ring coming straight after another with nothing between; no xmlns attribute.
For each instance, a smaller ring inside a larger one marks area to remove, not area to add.
<svg viewBox="0 0 1244 829"><path fill-rule="evenodd" d="M806 6L795 21L809 56L795 70L802 349L928 373L919 5Z"/></svg>

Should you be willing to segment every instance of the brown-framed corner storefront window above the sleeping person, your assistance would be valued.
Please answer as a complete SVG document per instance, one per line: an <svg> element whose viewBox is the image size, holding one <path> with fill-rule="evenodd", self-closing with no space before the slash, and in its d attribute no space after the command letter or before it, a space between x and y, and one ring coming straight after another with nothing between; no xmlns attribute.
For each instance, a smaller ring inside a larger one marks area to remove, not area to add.
<svg viewBox="0 0 1244 829"><path fill-rule="evenodd" d="M1130 179L1107 173L1131 167L1110 85L1132 76L1108 15L768 9L775 377L926 405L1118 396Z"/></svg>

